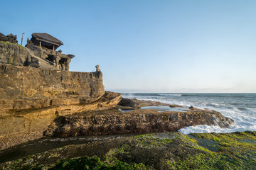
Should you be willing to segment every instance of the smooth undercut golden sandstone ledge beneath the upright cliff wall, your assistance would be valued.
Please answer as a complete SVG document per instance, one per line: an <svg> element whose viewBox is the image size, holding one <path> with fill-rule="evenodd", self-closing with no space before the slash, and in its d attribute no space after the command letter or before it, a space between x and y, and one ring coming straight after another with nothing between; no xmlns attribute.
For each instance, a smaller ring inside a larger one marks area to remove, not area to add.
<svg viewBox="0 0 256 170"><path fill-rule="evenodd" d="M14 145L43 137L48 126L64 115L86 111L100 111L117 106L121 95L106 91L102 98L87 104L55 105L47 108L22 109L1 113L0 148L6 149Z"/></svg>

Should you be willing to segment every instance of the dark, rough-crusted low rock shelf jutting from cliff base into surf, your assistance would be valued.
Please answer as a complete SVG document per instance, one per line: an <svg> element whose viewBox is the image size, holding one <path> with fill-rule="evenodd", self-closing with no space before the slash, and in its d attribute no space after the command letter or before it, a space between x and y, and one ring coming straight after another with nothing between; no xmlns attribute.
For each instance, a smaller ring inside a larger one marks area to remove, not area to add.
<svg viewBox="0 0 256 170"><path fill-rule="evenodd" d="M146 101L144 101L146 102ZM45 135L70 137L177 131L192 125L229 128L234 120L217 111L191 109L184 112L137 109L134 111L92 111L56 118Z"/></svg>

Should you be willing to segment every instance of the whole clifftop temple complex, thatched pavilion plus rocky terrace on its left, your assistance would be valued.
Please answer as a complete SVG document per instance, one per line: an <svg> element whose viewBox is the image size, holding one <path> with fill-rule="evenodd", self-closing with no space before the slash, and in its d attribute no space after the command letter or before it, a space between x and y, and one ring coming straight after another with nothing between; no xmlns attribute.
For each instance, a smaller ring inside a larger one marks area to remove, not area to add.
<svg viewBox="0 0 256 170"><path fill-rule="evenodd" d="M0 63L68 71L75 57L57 51L63 42L48 33L33 33L25 47L17 43L17 35L0 33Z"/></svg>

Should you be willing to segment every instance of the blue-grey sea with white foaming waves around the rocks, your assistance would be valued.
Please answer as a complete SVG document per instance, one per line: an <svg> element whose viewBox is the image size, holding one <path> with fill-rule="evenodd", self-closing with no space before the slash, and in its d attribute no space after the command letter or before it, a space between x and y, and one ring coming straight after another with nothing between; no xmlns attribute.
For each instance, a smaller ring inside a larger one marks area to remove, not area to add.
<svg viewBox="0 0 256 170"><path fill-rule="evenodd" d="M225 117L235 120L236 123L230 128L196 125L178 130L184 134L256 131L256 94L122 94L122 97L219 111Z"/></svg>

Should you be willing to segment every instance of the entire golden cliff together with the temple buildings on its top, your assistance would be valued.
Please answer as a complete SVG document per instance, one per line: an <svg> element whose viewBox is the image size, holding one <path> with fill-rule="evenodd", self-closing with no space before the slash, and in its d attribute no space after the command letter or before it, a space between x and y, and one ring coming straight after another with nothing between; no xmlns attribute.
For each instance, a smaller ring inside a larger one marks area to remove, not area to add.
<svg viewBox="0 0 256 170"><path fill-rule="evenodd" d="M0 42L1 149L43 137L59 116L119 103L120 94L105 91L98 65L96 72L68 72L75 56L55 51L63 42L34 33L23 47L10 36L1 34Z"/></svg>

